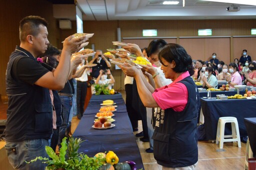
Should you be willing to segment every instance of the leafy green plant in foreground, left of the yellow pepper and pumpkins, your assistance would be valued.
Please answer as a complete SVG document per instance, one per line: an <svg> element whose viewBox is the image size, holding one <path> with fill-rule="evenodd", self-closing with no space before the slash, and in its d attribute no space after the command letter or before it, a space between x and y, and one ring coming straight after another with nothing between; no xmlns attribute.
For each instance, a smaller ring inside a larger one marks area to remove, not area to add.
<svg viewBox="0 0 256 170"><path fill-rule="evenodd" d="M45 170L98 170L104 162L105 158L90 158L83 153L78 153L81 139L74 139L70 137L68 144L66 137L61 142L61 148L59 150L59 156L48 146L45 147L46 153L49 158L36 157L34 160L26 163L32 163L37 160L47 164Z"/></svg>

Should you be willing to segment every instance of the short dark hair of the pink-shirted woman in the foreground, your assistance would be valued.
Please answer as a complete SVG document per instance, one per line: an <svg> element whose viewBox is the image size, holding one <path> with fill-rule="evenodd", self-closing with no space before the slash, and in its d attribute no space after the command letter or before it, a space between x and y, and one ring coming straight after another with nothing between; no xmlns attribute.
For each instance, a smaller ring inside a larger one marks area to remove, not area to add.
<svg viewBox="0 0 256 170"><path fill-rule="evenodd" d="M186 50L179 44L169 43L163 47L159 53L159 60L162 63L162 58L167 62L175 62L173 71L176 73L182 73L188 71L192 66L192 59L187 54Z"/></svg>

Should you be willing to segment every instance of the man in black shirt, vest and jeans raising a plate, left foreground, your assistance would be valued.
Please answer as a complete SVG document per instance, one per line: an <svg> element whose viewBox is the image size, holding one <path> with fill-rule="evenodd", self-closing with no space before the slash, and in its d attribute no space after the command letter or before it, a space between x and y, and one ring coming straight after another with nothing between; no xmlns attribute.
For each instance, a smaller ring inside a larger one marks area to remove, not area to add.
<svg viewBox="0 0 256 170"><path fill-rule="evenodd" d="M64 40L61 59L49 71L35 57L43 54L49 43L47 21L26 16L20 21L20 45L11 53L6 70L8 95L6 145L9 163L14 169L44 170L45 164L26 164L37 156L47 157L45 146L52 134L52 103L49 89L64 87L69 74L70 56L80 50L85 36Z"/></svg>

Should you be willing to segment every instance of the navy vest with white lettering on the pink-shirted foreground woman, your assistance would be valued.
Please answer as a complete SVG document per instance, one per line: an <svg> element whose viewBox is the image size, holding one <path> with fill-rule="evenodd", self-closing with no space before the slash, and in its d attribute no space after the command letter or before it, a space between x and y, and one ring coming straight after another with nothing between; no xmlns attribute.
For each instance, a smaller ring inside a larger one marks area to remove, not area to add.
<svg viewBox="0 0 256 170"><path fill-rule="evenodd" d="M179 83L184 84L188 91L185 109L175 112L172 108L157 108L152 115L154 158L157 164L171 168L191 166L198 160L196 124L199 93L191 77Z"/></svg>

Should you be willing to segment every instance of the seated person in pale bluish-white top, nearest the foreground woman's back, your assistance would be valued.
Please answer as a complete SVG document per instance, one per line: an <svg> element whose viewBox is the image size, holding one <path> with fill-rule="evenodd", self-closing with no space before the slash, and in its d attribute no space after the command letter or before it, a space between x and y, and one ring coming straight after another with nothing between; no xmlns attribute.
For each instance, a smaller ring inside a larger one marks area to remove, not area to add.
<svg viewBox="0 0 256 170"><path fill-rule="evenodd" d="M212 67L206 67L204 76L202 77L202 87L205 88L217 88L218 87L218 80L213 75L213 68Z"/></svg>

